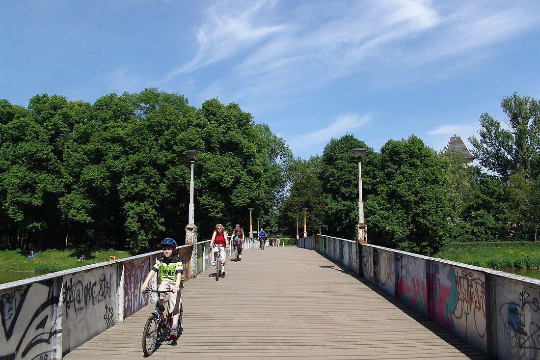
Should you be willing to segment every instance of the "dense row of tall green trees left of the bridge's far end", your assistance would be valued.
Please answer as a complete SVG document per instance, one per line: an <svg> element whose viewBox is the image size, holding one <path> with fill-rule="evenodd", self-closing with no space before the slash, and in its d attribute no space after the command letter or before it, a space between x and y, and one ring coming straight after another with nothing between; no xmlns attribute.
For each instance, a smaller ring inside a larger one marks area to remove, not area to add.
<svg viewBox="0 0 540 360"><path fill-rule="evenodd" d="M180 243L195 162L195 223L248 224L247 208L275 230L291 152L238 104L145 89L93 104L36 95L0 101L0 243L3 248L90 244L141 251ZM245 226L246 227L246 226ZM249 225L247 225L249 227Z"/></svg>

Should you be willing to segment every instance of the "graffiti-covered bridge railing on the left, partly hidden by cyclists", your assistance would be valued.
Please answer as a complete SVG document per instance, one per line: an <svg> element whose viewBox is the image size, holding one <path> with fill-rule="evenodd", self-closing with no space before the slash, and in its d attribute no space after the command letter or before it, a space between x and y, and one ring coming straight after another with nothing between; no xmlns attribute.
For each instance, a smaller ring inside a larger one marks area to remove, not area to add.
<svg viewBox="0 0 540 360"><path fill-rule="evenodd" d="M258 246L257 240L245 239L244 249ZM184 263L184 281L212 264L210 240L179 246L177 251ZM228 256L232 249L226 251ZM150 303L139 290L161 252L1 284L0 358L62 358L124 321ZM157 289L157 282L156 275L151 288Z"/></svg>

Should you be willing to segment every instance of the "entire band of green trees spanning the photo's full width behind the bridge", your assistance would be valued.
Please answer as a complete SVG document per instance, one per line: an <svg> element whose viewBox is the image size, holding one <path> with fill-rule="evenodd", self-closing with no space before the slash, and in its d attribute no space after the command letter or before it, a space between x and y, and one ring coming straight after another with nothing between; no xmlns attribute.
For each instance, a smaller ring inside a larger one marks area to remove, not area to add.
<svg viewBox="0 0 540 360"><path fill-rule="evenodd" d="M540 106L504 98L506 126L483 114L465 166L414 135L379 151L345 135L321 156L293 158L285 142L238 104L200 109L178 94L145 89L93 104L36 95L28 108L0 101L0 245L87 245L142 251L187 224L190 168L197 149L195 223L247 230L249 213L275 234L319 229L352 239L357 223L357 160L362 159L368 241L433 254L448 240L534 240L540 224ZM254 220L255 224L255 220Z"/></svg>

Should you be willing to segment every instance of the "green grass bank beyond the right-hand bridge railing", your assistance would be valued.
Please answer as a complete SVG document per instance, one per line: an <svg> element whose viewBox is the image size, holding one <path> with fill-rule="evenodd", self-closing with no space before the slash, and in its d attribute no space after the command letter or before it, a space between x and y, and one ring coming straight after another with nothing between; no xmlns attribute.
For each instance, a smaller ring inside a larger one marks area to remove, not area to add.
<svg viewBox="0 0 540 360"><path fill-rule="evenodd" d="M451 242L433 256L490 269L539 268L540 243Z"/></svg>

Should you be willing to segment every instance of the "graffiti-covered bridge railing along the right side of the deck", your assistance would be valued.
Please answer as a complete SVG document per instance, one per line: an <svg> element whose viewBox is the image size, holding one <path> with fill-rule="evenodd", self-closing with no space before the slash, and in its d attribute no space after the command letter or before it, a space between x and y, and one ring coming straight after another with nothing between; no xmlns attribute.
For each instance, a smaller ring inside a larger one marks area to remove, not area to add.
<svg viewBox="0 0 540 360"><path fill-rule="evenodd" d="M540 358L537 279L323 235L298 246L363 276L489 356Z"/></svg>

